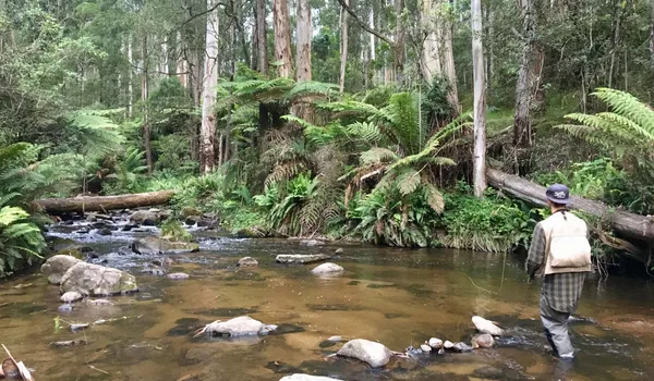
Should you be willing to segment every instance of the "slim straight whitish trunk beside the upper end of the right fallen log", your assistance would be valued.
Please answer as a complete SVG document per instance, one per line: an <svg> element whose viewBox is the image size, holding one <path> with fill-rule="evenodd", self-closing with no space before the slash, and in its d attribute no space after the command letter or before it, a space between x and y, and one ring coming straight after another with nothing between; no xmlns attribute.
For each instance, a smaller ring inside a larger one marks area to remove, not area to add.
<svg viewBox="0 0 654 381"><path fill-rule="evenodd" d="M474 195L482 197L486 189L486 85L484 74L484 46L482 44L482 2L471 0L472 19L472 74L474 77Z"/></svg>

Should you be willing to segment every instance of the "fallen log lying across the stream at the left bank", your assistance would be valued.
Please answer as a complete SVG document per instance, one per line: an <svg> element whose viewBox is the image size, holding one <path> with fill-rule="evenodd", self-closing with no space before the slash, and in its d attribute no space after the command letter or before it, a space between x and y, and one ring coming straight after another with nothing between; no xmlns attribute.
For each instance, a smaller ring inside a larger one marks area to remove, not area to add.
<svg viewBox="0 0 654 381"><path fill-rule="evenodd" d="M49 214L66 212L107 211L149 207L170 202L173 190L159 190L118 196L82 196L71 198L44 198L35 200L35 206Z"/></svg>

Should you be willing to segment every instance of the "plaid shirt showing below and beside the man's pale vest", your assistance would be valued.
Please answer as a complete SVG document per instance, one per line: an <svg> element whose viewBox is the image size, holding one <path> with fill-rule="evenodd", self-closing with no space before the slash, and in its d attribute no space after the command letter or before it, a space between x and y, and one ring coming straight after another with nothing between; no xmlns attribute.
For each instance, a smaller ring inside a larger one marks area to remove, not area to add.
<svg viewBox="0 0 654 381"><path fill-rule="evenodd" d="M533 276L544 266L546 245L545 231L541 223L537 223L525 263L530 276ZM548 274L543 279L542 294L553 309L572 314L577 310L584 280L585 272Z"/></svg>

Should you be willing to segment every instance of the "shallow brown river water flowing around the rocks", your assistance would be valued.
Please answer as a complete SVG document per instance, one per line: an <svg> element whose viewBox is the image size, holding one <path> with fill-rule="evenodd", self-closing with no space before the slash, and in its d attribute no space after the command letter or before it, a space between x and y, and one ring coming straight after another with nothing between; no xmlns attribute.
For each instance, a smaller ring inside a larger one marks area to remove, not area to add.
<svg viewBox="0 0 654 381"><path fill-rule="evenodd" d="M117 254L132 235L84 237L63 228L58 234L86 241L106 255L107 266L134 273L141 292L110 298L113 306L77 304L59 312L58 286L45 276L0 283L0 342L39 381L279 380L294 372L341 380L654 379L654 292L643 280L586 281L571 325L579 353L564 367L542 334L538 284L528 284L522 263L510 256L349 244L305 247L296 241L198 233L199 253L171 256L171 271L191 278L173 281L140 273L153 257ZM312 275L315 265L275 262L278 254L337 247L344 253L334 261L346 272L336 278ZM234 268L243 256L259 266ZM280 330L247 340L193 337L205 323L242 315ZM493 349L421 356L413 369L373 370L327 357L342 345L324 343L332 335L378 341L402 352L434 336L470 343L473 315L500 322L507 337ZM80 333L66 329L70 322L116 318ZM82 337L88 345L49 345Z"/></svg>

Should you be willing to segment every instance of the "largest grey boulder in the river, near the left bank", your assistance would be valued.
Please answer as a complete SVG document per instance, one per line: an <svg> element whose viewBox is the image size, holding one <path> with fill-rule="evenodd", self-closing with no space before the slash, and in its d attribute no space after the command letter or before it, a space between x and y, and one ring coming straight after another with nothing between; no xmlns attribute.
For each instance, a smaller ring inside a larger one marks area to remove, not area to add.
<svg viewBox="0 0 654 381"><path fill-rule="evenodd" d="M99 265L77 262L61 278L62 293L82 295L124 295L138 291L134 275Z"/></svg>

